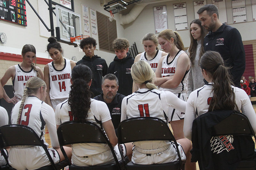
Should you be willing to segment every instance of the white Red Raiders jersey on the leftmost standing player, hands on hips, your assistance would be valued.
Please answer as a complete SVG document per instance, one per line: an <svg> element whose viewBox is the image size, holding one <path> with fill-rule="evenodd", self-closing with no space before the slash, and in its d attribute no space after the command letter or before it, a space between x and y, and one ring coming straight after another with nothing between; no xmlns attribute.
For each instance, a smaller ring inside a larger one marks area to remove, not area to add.
<svg viewBox="0 0 256 170"><path fill-rule="evenodd" d="M12 80L14 95L21 100L23 98L24 89L28 79L36 76L36 71L33 68L31 68L30 71L24 71L20 67L20 64L15 65L15 77Z"/></svg>

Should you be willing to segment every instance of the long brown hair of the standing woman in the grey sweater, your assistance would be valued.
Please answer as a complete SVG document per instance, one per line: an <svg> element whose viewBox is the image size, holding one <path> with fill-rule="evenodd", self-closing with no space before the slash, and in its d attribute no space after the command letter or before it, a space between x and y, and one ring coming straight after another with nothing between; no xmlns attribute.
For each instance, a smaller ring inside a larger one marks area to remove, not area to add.
<svg viewBox="0 0 256 170"><path fill-rule="evenodd" d="M191 24L197 24L201 29L201 49L200 49L199 60L198 60L198 65L200 65L201 56L204 54L204 37L206 36L207 31L202 26L202 22L199 19L192 20L190 23L190 26L191 26ZM188 51L189 51L189 58L191 61L191 67L193 67L194 61L196 58L197 40L195 40L194 37L192 36L191 30L189 31L189 37L190 37L190 46L188 48Z"/></svg>

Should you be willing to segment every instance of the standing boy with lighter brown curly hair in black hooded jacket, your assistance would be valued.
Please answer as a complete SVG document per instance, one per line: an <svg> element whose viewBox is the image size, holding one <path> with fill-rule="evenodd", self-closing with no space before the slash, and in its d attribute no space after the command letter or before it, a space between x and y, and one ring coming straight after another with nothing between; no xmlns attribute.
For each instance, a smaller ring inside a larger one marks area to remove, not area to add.
<svg viewBox="0 0 256 170"><path fill-rule="evenodd" d="M128 96L132 94L132 75L131 68L134 58L128 53L130 43L124 38L117 38L113 41L113 49L116 56L114 61L109 64L108 74L114 74L118 78L118 93Z"/></svg>

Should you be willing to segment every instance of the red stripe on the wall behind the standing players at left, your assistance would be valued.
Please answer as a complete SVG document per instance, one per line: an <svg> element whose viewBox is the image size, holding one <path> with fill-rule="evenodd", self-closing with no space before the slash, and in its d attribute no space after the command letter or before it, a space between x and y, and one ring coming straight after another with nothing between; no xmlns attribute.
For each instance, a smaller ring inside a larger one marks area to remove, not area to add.
<svg viewBox="0 0 256 170"><path fill-rule="evenodd" d="M22 62L22 55L0 52L0 60ZM37 64L46 65L52 61L53 61L52 59L48 59L48 58L39 58L39 57L36 58Z"/></svg>

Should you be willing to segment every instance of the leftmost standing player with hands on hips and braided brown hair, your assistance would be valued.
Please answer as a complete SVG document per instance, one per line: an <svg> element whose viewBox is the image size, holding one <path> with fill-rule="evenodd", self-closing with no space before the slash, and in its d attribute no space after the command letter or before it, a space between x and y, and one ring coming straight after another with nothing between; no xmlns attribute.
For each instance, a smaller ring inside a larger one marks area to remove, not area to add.
<svg viewBox="0 0 256 170"><path fill-rule="evenodd" d="M22 99L23 90L29 78L37 76L44 79L42 70L33 63L34 60L36 63L36 48L31 44L26 44L22 48L21 55L23 61L20 64L9 67L1 78L2 86L12 78L14 97L10 99L4 91L4 100L14 105Z"/></svg>

